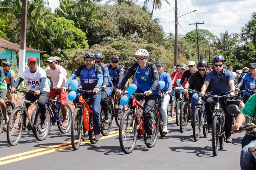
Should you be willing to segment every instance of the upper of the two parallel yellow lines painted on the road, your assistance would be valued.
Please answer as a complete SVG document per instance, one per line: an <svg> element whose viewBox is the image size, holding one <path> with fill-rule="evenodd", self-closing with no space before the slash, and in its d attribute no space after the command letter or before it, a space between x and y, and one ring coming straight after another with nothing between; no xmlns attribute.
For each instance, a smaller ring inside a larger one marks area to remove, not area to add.
<svg viewBox="0 0 256 170"><path fill-rule="evenodd" d="M118 130L109 132L109 134L113 134L113 133L116 133L116 132L118 132ZM83 142L81 142L81 143L83 143ZM17 154L10 155L10 156L2 157L2 158L0 158L0 161L5 160L5 159L11 159L11 158L27 155L27 154L31 154L31 153L35 153L35 152L40 152L40 151L44 151L44 150L48 150L48 149L52 149L52 148L58 148L60 146L67 145L67 144L71 144L71 142L56 144L56 145L52 145L52 146L48 146L48 147L44 147L44 148L40 148L40 149L35 149L35 150L32 150L32 151L28 151L28 152L22 152L22 153L17 153Z"/></svg>

